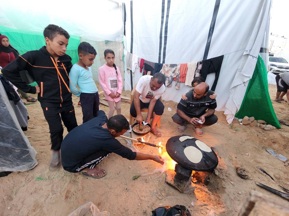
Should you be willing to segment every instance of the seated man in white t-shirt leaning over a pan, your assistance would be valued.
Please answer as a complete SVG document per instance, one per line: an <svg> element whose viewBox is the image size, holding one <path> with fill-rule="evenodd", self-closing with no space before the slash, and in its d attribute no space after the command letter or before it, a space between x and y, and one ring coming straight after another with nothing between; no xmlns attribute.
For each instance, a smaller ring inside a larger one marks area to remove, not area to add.
<svg viewBox="0 0 289 216"><path fill-rule="evenodd" d="M159 99L166 90L164 86L165 80L166 78L162 73L140 77L136 85L136 91L134 92L134 101L130 107L130 114L136 118L138 124L141 124L143 121L141 109L145 107L149 109L146 120L149 123L151 122L151 115L155 112L151 123L151 132L158 137L162 135L158 131L156 124L164 113L164 105Z"/></svg>

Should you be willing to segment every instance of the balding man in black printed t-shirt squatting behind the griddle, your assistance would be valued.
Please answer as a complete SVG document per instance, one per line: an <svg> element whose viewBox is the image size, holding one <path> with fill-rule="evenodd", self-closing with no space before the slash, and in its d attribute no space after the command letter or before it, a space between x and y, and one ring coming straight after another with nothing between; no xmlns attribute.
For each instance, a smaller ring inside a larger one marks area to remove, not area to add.
<svg viewBox="0 0 289 216"><path fill-rule="evenodd" d="M212 94L214 92L209 90L209 85L205 82L200 82L194 90L186 93L188 99L180 100L177 113L172 117L173 122L180 125L177 131L184 132L187 125L192 124L195 133L201 137L204 135L202 127L210 126L218 121L217 116L214 115L217 102L216 99L210 98Z"/></svg>

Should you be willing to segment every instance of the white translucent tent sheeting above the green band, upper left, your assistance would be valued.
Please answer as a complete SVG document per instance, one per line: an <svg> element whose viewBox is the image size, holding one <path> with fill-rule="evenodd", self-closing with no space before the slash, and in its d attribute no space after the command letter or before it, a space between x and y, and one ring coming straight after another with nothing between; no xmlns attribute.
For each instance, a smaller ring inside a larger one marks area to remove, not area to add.
<svg viewBox="0 0 289 216"><path fill-rule="evenodd" d="M0 25L42 33L48 24L93 41L123 41L122 11L114 1L79 4L64 0L59 5L37 0L1 1Z"/></svg>

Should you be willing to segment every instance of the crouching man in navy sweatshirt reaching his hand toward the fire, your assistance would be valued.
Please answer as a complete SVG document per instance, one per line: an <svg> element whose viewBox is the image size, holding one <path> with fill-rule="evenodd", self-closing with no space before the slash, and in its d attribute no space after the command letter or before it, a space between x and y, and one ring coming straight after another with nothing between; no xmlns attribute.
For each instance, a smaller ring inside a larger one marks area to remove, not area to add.
<svg viewBox="0 0 289 216"><path fill-rule="evenodd" d="M115 139L129 129L123 115L114 115L109 120L104 111L97 117L81 124L69 132L61 144L61 162L64 170L71 173L81 172L92 178L102 178L106 171L97 165L111 153L128 160L154 160L164 164L159 155L133 152Z"/></svg>

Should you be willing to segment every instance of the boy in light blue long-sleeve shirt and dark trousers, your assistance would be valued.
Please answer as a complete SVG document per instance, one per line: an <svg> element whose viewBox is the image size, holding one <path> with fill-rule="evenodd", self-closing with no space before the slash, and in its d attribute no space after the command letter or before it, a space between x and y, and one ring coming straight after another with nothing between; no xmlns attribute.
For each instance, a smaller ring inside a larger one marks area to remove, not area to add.
<svg viewBox="0 0 289 216"><path fill-rule="evenodd" d="M81 42L78 46L78 62L70 70L69 89L72 94L80 97L83 123L97 116L99 111L98 89L92 79L90 66L97 55L93 46L87 42ZM79 90L76 88L79 87Z"/></svg>

